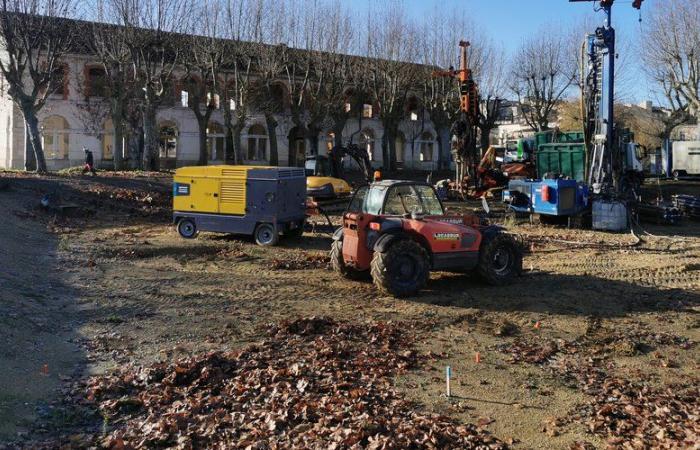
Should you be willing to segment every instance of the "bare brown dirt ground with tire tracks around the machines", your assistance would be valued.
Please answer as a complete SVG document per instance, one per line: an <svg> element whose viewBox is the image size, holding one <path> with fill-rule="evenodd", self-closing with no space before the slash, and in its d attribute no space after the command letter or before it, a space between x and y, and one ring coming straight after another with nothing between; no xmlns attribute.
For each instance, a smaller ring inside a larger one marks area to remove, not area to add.
<svg viewBox="0 0 700 450"><path fill-rule="evenodd" d="M179 238L165 175L2 180L10 186L0 190L0 443L99 426L66 409L75 380L129 362L240 348L270 324L307 316L428 324L417 339L430 362L396 379L399 391L514 448L605 446L604 435L563 420L593 398L575 381L586 362L610 379L698 384L697 222L644 224L641 241L512 224L529 249L515 284L435 273L420 295L395 299L330 271L328 234L274 249L209 233ZM693 182L647 188L700 194ZM71 207L43 210L47 193ZM558 349L546 361L519 356L546 345Z"/></svg>

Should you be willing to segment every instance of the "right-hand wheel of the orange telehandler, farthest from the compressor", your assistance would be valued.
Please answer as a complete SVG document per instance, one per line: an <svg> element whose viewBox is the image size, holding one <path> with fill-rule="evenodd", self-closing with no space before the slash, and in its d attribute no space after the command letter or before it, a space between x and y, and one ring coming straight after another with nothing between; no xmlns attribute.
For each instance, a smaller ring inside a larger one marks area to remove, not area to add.
<svg viewBox="0 0 700 450"><path fill-rule="evenodd" d="M523 252L512 236L484 237L479 249L479 275L493 286L510 284L523 270Z"/></svg>

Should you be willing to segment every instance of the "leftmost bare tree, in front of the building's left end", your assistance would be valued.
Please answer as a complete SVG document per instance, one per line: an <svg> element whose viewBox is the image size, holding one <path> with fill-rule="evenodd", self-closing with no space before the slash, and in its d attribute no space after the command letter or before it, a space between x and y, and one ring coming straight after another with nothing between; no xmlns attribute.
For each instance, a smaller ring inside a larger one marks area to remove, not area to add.
<svg viewBox="0 0 700 450"><path fill-rule="evenodd" d="M46 172L46 158L37 114L62 83L61 58L79 35L79 31L71 30L62 18L74 13L73 0L0 2L0 39L4 53L0 58L0 70L8 84L8 95L24 117L39 173ZM27 160L27 169L34 168L30 158Z"/></svg>

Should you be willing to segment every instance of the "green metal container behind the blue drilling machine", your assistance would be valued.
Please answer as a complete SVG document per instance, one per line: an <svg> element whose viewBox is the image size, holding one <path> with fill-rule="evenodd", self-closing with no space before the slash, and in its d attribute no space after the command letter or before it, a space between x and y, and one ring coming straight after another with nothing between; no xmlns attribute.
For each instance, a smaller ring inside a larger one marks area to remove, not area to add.
<svg viewBox="0 0 700 450"><path fill-rule="evenodd" d="M541 144L537 149L537 176L561 174L585 181L586 147L584 144Z"/></svg>

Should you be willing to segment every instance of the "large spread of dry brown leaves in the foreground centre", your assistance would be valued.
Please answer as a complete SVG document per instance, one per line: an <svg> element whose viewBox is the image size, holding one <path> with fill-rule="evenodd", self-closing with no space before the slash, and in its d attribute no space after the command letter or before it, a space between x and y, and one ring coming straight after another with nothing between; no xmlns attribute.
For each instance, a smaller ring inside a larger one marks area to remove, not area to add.
<svg viewBox="0 0 700 450"><path fill-rule="evenodd" d="M109 448L504 448L474 425L417 412L391 377L418 362L407 324L311 317L230 353L127 367L88 399Z"/></svg>

